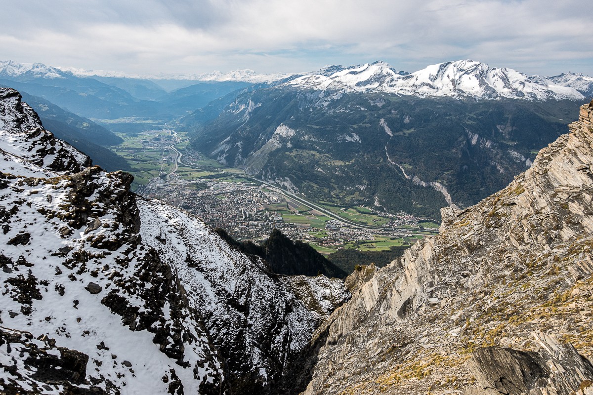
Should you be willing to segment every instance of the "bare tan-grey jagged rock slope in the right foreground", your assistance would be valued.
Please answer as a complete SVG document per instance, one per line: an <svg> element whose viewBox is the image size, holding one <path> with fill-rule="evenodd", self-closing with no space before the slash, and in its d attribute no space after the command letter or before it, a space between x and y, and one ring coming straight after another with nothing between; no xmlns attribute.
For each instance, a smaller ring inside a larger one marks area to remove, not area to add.
<svg viewBox="0 0 593 395"><path fill-rule="evenodd" d="M569 129L504 190L443 210L439 236L347 278L353 297L318 329L304 393L513 393L470 369L489 346L538 353L548 376L522 383L530 394L592 380L581 368L554 387L562 369L541 364L551 359L533 336L593 356L593 103Z"/></svg>

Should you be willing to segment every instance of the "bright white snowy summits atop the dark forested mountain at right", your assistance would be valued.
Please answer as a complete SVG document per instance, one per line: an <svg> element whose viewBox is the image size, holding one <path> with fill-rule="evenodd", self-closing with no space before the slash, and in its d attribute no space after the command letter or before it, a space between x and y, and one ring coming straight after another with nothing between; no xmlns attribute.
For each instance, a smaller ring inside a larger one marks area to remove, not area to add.
<svg viewBox="0 0 593 395"><path fill-rule="evenodd" d="M345 92L385 92L420 97L581 100L570 86L533 81L509 68L492 68L474 60L439 63L413 73L396 72L385 62L343 68L333 66L285 83L296 88Z"/></svg>

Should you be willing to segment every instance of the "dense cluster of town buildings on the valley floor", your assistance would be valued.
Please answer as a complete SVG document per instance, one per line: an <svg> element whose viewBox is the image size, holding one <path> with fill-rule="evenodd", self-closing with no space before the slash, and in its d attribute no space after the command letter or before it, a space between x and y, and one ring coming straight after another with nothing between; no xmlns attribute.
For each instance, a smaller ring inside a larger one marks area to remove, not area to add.
<svg viewBox="0 0 593 395"><path fill-rule="evenodd" d="M362 229L338 220L319 225L311 213L298 213L279 192L253 182L225 182L218 179L174 182L152 178L136 192L146 198L159 198L199 217L212 227L221 227L241 240L265 239L279 229L295 240L304 240L328 248L337 248L356 240L374 240L374 235L406 236L406 230L390 229L402 224L417 224L416 217L388 214L390 222L383 231ZM385 216L384 213L376 213ZM295 220L298 215L298 221ZM304 219L304 220L303 220ZM315 224L315 225L313 225ZM404 232L404 234L402 234Z"/></svg>

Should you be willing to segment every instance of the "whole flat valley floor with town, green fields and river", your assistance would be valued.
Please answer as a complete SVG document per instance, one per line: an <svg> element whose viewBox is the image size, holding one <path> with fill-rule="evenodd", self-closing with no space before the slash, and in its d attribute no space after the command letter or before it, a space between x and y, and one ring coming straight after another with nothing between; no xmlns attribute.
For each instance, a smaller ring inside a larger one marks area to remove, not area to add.
<svg viewBox="0 0 593 395"><path fill-rule="evenodd" d="M378 251L436 233L435 224L406 213L308 201L250 178L240 169L205 162L203 155L187 146L178 148L186 140L172 130L160 131L157 137L154 134L151 131L139 136L141 144L133 150L132 158L146 159L151 154L160 164L136 192L183 208L236 239L263 240L273 229L279 229L291 239L330 253L339 248Z"/></svg>

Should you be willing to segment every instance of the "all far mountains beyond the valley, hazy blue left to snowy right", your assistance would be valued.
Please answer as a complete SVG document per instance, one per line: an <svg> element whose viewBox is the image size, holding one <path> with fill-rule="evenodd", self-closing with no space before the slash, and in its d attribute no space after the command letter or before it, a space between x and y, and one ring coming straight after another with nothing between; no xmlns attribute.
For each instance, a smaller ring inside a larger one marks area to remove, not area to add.
<svg viewBox="0 0 593 395"><path fill-rule="evenodd" d="M528 76L473 60L413 73L379 61L192 77L203 81L92 74L0 62L1 85L112 131L183 127L196 150L293 192L432 219L508 184L576 116L575 102L593 96L589 76Z"/></svg>

